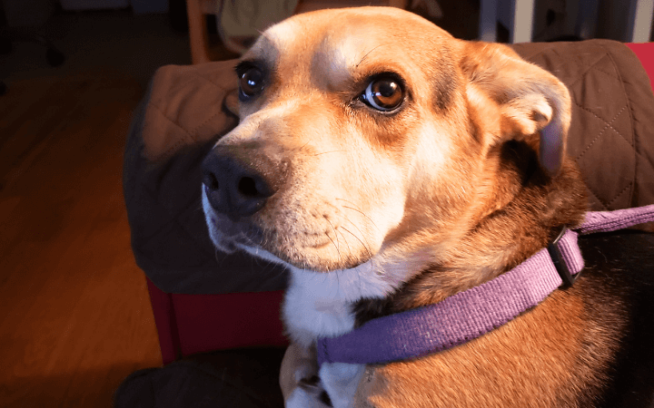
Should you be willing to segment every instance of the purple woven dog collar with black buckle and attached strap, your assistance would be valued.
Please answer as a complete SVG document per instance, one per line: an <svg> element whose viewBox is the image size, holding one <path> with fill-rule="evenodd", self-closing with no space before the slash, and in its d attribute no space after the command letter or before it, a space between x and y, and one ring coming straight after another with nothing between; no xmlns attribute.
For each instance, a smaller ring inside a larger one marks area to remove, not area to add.
<svg viewBox="0 0 654 408"><path fill-rule="evenodd" d="M589 212L576 231L563 229L518 267L442 302L373 319L338 337L317 342L318 364L379 364L430 355L461 345L508 323L569 286L584 267L579 234L609 232L654 221L654 205Z"/></svg>

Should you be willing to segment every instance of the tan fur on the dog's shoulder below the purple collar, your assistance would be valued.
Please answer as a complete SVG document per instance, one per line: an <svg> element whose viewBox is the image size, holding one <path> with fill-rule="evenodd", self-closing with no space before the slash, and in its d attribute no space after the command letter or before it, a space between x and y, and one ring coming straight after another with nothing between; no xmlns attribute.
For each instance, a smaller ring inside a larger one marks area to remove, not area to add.
<svg viewBox="0 0 654 408"><path fill-rule="evenodd" d="M623 328L619 304L599 307L602 321ZM584 308L579 293L558 292L465 345L417 361L368 367L356 406L590 406L579 394L599 392L619 342Z"/></svg>

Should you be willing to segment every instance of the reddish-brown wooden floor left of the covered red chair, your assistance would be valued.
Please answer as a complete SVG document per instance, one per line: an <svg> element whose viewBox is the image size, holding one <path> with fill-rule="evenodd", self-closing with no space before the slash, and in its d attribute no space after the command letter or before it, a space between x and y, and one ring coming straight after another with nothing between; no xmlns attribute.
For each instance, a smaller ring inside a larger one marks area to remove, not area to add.
<svg viewBox="0 0 654 408"><path fill-rule="evenodd" d="M121 184L142 92L105 72L0 96L1 407L110 407L161 364Z"/></svg>

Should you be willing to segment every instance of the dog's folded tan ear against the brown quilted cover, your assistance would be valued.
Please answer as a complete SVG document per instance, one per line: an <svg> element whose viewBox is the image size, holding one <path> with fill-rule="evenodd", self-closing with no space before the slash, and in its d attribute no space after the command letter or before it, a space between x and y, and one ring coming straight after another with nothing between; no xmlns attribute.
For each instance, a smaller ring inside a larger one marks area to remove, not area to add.
<svg viewBox="0 0 654 408"><path fill-rule="evenodd" d="M556 175L570 128L568 88L506 45L467 42L463 46L461 70L468 77L469 102L482 121L489 121L488 115L499 116L490 130L497 133L492 137L498 142L520 140L540 132L540 165Z"/></svg>

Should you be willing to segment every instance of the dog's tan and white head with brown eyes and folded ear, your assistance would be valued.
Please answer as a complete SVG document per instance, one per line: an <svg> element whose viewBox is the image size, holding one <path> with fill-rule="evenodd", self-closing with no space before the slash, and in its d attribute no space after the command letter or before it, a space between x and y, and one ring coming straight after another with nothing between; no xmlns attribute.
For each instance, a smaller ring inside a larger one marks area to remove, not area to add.
<svg viewBox="0 0 654 408"><path fill-rule="evenodd" d="M416 270L515 199L516 163L547 180L564 161L562 83L399 9L293 16L236 72L240 124L203 161L218 248L314 271Z"/></svg>

